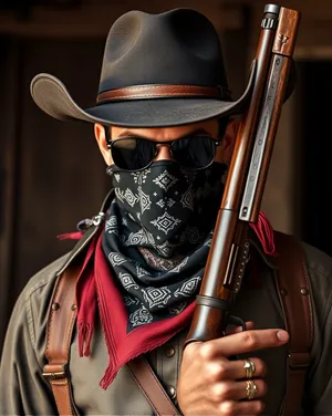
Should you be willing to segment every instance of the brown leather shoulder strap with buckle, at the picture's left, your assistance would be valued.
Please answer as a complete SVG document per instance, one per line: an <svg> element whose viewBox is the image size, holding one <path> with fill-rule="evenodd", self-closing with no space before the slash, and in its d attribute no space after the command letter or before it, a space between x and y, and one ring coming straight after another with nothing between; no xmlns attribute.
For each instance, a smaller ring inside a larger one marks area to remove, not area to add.
<svg viewBox="0 0 332 416"><path fill-rule="evenodd" d="M49 361L43 376L50 382L59 415L76 415L73 404L69 357L76 318L75 283L79 267L71 266L58 279L48 321L46 351Z"/></svg>

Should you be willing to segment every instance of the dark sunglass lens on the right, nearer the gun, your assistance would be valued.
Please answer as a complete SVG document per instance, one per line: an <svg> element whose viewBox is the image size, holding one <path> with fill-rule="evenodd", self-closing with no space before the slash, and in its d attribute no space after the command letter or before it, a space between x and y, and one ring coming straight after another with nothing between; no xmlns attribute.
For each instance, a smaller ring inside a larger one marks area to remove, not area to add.
<svg viewBox="0 0 332 416"><path fill-rule="evenodd" d="M174 142L174 158L185 168L201 169L214 160L216 146L207 136L184 137Z"/></svg>

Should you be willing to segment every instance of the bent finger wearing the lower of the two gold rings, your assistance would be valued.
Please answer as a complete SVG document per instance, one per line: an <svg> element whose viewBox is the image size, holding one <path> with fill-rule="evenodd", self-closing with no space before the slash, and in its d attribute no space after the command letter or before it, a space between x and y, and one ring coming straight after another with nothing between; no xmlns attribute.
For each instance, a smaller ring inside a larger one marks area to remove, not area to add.
<svg viewBox="0 0 332 416"><path fill-rule="evenodd" d="M267 394L267 384L262 379L251 381L252 385L256 386L255 398L263 397ZM248 383L247 382L232 382L226 381L220 383L215 383L210 387L209 398L215 403L220 403L225 401L242 401L248 398Z"/></svg>

